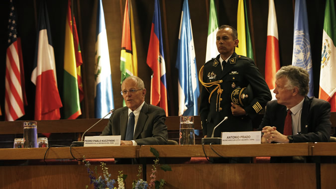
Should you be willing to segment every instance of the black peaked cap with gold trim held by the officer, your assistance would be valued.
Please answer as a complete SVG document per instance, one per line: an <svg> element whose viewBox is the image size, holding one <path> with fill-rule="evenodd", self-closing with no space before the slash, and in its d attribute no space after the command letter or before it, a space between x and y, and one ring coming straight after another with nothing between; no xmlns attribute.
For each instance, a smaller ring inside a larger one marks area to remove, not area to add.
<svg viewBox="0 0 336 189"><path fill-rule="evenodd" d="M234 88L231 93L231 101L234 104L240 105L242 107L250 104L252 99L253 99L253 91L250 85L244 88L241 87Z"/></svg>

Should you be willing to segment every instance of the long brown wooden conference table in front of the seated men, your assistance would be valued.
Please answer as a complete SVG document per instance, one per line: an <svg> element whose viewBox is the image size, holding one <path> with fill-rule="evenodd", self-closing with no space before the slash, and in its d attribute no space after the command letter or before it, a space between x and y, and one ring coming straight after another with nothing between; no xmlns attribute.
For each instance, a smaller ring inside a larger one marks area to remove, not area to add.
<svg viewBox="0 0 336 189"><path fill-rule="evenodd" d="M127 175L125 185L132 188L139 166L142 178L149 181L152 165L109 164L111 158L153 159L150 148L159 152L172 171L158 169L156 180L166 181L165 189L189 188L274 188L326 189L334 188L336 164L324 163L251 163L211 164L205 157L262 157L262 156L336 156L336 143L291 143L251 145L142 145L111 147L51 147L0 149L0 188L57 188L81 189L90 186L87 169L80 161L86 157L98 162L92 165L100 170L99 162L107 162L113 179L118 171ZM191 163L181 159L199 158L205 161ZM45 160L48 165L44 164ZM172 161L176 160L176 161ZM180 161L180 162L179 162ZM143 161L146 162L146 161ZM173 162L173 163L169 163Z"/></svg>

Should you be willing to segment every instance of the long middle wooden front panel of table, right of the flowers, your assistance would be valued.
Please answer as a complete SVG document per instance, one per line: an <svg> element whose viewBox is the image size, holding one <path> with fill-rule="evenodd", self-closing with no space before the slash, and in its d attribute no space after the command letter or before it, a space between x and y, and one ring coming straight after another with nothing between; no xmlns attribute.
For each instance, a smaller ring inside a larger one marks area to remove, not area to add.
<svg viewBox="0 0 336 189"><path fill-rule="evenodd" d="M158 169L165 189L316 189L315 164L182 164ZM147 178L151 166L147 165ZM298 177L298 175L300 175ZM302 181L304 178L305 182Z"/></svg>

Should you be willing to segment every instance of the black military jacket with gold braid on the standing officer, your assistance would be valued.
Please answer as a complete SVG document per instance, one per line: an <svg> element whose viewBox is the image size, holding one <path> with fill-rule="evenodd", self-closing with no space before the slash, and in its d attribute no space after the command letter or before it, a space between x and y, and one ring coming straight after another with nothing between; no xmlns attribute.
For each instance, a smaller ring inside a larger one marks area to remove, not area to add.
<svg viewBox="0 0 336 189"><path fill-rule="evenodd" d="M216 129L215 137L221 137L221 132L251 131L251 118L255 117L265 107L266 102L272 99L270 90L253 60L233 52L222 71L219 58L220 55L208 61L204 65L203 76L200 76L205 84L223 81L222 83L218 82L221 90L214 91L218 85L207 85L211 87L203 86L202 89L200 115L203 134L208 137L211 137L214 127L225 116L228 119ZM253 99L250 104L243 107L247 115L233 116L230 104L231 93L233 89L247 87L248 84L253 90ZM218 95L220 91L222 94Z"/></svg>

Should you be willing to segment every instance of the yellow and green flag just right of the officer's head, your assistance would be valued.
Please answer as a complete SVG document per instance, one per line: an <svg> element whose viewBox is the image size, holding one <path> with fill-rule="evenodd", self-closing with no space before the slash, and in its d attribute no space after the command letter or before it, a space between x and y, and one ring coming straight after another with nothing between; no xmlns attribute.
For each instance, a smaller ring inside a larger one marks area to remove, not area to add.
<svg viewBox="0 0 336 189"><path fill-rule="evenodd" d="M235 52L242 56L253 59L253 49L250 38L250 32L247 20L247 10L245 0L238 1L237 11L237 34L239 44L235 48Z"/></svg>

